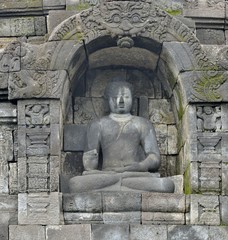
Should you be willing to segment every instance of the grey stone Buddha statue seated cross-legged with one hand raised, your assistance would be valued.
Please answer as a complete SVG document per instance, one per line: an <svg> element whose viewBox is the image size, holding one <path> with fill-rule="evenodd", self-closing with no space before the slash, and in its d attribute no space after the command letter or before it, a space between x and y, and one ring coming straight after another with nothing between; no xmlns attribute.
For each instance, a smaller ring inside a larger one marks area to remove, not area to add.
<svg viewBox="0 0 228 240"><path fill-rule="evenodd" d="M106 88L110 114L87 127L85 171L70 179L71 193L87 191L174 192L170 179L160 178L160 152L152 124L131 115L132 85L112 81ZM99 156L103 161L100 170Z"/></svg>

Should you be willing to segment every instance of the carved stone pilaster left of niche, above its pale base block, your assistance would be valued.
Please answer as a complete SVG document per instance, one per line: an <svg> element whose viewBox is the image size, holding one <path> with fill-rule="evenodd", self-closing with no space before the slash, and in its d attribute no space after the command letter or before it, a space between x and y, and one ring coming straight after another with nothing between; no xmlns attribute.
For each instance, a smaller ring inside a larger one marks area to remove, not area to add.
<svg viewBox="0 0 228 240"><path fill-rule="evenodd" d="M60 103L20 101L18 171L20 192L58 189L60 158ZM57 161L57 163L55 163Z"/></svg>

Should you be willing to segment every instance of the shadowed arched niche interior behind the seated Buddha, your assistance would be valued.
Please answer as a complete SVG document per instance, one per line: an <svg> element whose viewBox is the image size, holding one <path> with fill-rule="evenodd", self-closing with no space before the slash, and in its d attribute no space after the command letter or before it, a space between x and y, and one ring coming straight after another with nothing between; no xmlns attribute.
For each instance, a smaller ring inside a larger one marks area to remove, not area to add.
<svg viewBox="0 0 228 240"><path fill-rule="evenodd" d="M86 126L92 120L109 114L104 90L112 78L120 75L132 83L135 89L132 114L148 118L155 126L162 155L161 176L178 174L177 130L172 110L172 91L169 92L171 86L169 79L165 79L167 76L164 69L162 72L165 78L158 74L161 71L159 62L162 61L162 44L138 37L134 38L135 45L132 48L120 48L112 41L109 42L110 45L106 42L105 47L99 47L106 40L106 37L102 37L85 45L87 55L82 66L86 63L86 67L78 66L78 69L84 71L77 70L72 75L72 95L67 93L72 105L68 108L65 121L66 158L63 162L63 174L69 175L68 177L81 174ZM172 146L171 141L175 142ZM78 166L75 166L75 160Z"/></svg>

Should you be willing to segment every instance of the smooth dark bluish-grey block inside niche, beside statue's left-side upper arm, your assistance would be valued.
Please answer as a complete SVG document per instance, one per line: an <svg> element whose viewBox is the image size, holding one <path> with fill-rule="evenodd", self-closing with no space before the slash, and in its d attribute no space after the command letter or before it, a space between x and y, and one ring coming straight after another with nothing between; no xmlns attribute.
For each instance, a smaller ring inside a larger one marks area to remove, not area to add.
<svg viewBox="0 0 228 240"><path fill-rule="evenodd" d="M64 151L84 151L86 126L64 126Z"/></svg>

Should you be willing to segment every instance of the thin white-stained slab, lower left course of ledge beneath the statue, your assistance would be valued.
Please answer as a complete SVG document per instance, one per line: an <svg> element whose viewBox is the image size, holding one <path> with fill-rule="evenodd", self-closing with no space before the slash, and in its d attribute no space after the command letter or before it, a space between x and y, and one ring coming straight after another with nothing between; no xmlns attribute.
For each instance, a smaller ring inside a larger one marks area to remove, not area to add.
<svg viewBox="0 0 228 240"><path fill-rule="evenodd" d="M64 212L65 224L102 223L102 213L70 213Z"/></svg>

